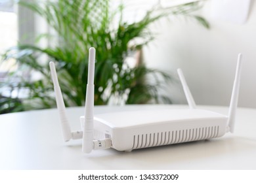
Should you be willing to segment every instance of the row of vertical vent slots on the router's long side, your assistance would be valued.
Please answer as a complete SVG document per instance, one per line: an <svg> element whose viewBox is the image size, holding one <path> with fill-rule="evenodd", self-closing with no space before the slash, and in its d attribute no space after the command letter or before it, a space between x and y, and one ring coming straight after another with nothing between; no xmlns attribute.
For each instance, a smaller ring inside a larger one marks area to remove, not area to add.
<svg viewBox="0 0 256 183"><path fill-rule="evenodd" d="M211 127L200 127L195 129L183 129L178 131L165 131L157 133L146 133L133 136L133 149L148 148L152 146L163 146L181 142L200 141L211 139L219 134L219 125Z"/></svg>

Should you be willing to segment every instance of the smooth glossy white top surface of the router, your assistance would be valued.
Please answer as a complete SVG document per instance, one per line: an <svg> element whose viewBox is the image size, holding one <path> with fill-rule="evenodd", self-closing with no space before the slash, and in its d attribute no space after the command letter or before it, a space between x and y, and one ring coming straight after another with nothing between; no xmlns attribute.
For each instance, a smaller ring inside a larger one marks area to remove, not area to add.
<svg viewBox="0 0 256 183"><path fill-rule="evenodd" d="M129 127L135 125L146 125L154 123L190 121L209 119L226 119L226 116L211 112L209 110L187 109L187 110L158 110L152 108L151 110L133 110L126 112L110 112L107 114L98 114L96 119L104 121L104 124L109 124L112 127ZM111 122L111 123L110 123Z"/></svg>

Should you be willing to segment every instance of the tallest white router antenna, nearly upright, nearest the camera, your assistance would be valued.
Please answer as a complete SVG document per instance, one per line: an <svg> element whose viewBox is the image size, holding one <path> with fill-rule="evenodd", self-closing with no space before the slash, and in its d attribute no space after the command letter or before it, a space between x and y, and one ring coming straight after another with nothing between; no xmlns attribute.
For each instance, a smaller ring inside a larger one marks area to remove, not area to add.
<svg viewBox="0 0 256 183"><path fill-rule="evenodd" d="M94 108L94 75L95 75L95 48L89 49L88 81L85 99L85 122L83 129L82 150L90 153L93 150L93 108Z"/></svg>

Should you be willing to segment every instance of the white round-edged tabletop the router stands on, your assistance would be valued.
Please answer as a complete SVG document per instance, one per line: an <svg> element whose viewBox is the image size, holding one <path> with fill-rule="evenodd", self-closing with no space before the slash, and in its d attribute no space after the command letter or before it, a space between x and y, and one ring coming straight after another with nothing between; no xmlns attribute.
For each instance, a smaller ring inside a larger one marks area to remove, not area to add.
<svg viewBox="0 0 256 183"><path fill-rule="evenodd" d="M95 107L95 114L185 105ZM227 107L200 106L221 114ZM72 130L80 129L83 107L67 108ZM238 108L234 133L209 141L186 142L118 152L81 152L81 140L63 142L56 109L0 115L0 169L256 169L256 109Z"/></svg>

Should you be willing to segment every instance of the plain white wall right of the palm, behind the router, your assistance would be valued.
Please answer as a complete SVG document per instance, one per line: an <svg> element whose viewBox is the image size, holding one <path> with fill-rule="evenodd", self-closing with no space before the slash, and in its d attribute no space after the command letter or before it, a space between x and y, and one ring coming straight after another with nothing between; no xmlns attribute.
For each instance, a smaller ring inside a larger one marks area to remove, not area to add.
<svg viewBox="0 0 256 183"><path fill-rule="evenodd" d="M149 67L173 73L181 67L199 105L229 105L238 53L243 54L239 107L256 107L256 3L251 1L245 24L211 17L211 1L198 12L211 24L175 19L152 27L161 32L144 49ZM173 103L186 103L179 82L170 86Z"/></svg>

